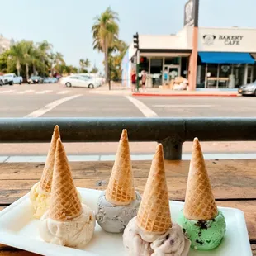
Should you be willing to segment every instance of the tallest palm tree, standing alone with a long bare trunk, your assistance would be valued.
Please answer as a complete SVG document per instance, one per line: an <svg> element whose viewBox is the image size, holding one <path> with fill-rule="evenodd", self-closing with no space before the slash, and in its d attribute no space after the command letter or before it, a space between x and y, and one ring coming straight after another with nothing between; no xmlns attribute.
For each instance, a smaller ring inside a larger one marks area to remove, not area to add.
<svg viewBox="0 0 256 256"><path fill-rule="evenodd" d="M119 34L118 14L108 7L99 17L95 17L92 26L93 49L104 53L105 78L108 80L108 50L113 44L115 37Z"/></svg>

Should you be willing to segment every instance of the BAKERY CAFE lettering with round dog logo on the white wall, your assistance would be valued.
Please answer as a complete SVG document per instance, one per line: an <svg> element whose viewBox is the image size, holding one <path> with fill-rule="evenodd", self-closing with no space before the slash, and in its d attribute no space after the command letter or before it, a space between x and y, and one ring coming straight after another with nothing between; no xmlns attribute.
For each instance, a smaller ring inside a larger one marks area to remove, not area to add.
<svg viewBox="0 0 256 256"><path fill-rule="evenodd" d="M224 45L240 45L244 36L239 35L204 35L203 40L205 45L214 45L216 40L222 41Z"/></svg>

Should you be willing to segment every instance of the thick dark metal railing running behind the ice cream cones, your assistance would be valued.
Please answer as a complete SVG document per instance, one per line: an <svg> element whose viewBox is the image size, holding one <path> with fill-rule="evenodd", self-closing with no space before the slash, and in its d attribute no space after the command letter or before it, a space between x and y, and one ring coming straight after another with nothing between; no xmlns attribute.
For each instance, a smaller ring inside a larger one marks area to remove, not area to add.
<svg viewBox="0 0 256 256"><path fill-rule="evenodd" d="M0 143L49 142L59 125L64 142L156 141L165 159L181 159L183 142L256 140L256 118L0 118Z"/></svg>

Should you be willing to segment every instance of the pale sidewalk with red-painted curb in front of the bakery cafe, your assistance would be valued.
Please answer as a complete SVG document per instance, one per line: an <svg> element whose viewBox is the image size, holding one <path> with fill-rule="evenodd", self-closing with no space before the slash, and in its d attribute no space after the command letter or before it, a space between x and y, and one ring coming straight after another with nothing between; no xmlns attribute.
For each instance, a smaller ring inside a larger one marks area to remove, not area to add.
<svg viewBox="0 0 256 256"><path fill-rule="evenodd" d="M106 94L106 95L132 95L140 96L161 96L161 97L238 97L237 89L204 89L200 88L196 91L173 91L169 89L147 88L146 92L131 92L130 88L113 88L109 90L108 84L95 88L90 93Z"/></svg>

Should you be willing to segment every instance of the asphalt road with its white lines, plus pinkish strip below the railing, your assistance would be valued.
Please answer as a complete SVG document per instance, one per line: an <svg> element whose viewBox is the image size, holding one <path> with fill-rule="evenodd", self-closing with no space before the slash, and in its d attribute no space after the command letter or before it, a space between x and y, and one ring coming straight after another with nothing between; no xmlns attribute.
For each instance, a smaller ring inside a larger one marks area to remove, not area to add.
<svg viewBox="0 0 256 256"><path fill-rule="evenodd" d="M256 97L130 97L59 84L0 87L0 117L255 117ZM116 143L69 144L68 154L114 154ZM0 155L46 154L48 144L2 144ZM133 154L153 153L155 143L131 143ZM186 143L184 152L190 152ZM255 152L255 143L204 143L205 152Z"/></svg>

